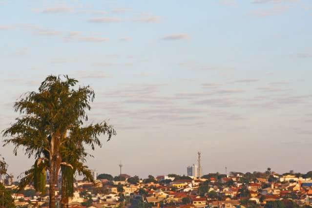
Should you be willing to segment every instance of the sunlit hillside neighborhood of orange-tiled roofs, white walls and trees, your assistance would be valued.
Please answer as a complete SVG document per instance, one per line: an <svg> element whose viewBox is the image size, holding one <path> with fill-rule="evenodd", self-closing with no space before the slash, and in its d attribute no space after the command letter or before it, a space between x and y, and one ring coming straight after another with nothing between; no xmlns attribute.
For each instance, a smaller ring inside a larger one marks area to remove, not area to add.
<svg viewBox="0 0 312 208"><path fill-rule="evenodd" d="M12 179L12 176L8 176ZM99 174L93 183L75 180L69 208L273 208L312 207L312 171L209 173L199 177L168 174L146 179ZM119 180L115 180L119 179ZM2 180L17 208L46 208L47 192ZM46 185L48 187L48 185ZM57 202L62 190L55 187ZM60 205L57 205L57 207Z"/></svg>

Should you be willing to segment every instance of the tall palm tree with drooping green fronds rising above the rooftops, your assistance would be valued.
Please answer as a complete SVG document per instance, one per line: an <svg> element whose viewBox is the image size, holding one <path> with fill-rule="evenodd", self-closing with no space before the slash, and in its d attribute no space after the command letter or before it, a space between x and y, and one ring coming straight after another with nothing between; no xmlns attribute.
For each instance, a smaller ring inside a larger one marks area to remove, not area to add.
<svg viewBox="0 0 312 208"><path fill-rule="evenodd" d="M83 145L94 150L95 146L102 146L100 135L107 134L108 140L116 135L114 128L106 122L84 125L88 120L86 109L91 109L90 103L95 94L89 86L75 89L77 83L68 76L64 76L64 80L60 76L48 76L38 92L26 93L14 104L15 111L22 116L3 131L4 137L10 137L4 140L4 146L13 144L15 155L23 146L24 154L36 159L32 169L25 172L23 183L31 179L38 181L43 177L44 170L49 171L50 208L55 208L55 185L61 166L74 167L62 159L66 155L63 151L66 142L76 143L82 152L78 158L83 161L87 156ZM40 188L42 184L38 186Z"/></svg>

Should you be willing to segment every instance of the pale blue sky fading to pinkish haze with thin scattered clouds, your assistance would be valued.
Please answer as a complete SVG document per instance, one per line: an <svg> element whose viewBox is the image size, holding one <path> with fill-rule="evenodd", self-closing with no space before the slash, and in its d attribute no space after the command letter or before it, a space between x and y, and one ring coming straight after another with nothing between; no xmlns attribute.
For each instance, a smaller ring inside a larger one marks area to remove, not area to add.
<svg viewBox="0 0 312 208"><path fill-rule="evenodd" d="M311 0L0 0L0 130L50 74L90 85L100 173L307 172ZM2 142L0 142L2 143ZM2 143L3 144L3 143ZM0 147L18 176L34 161Z"/></svg>

